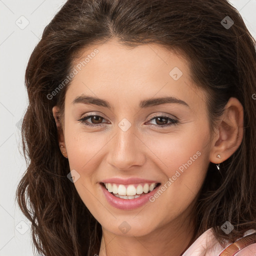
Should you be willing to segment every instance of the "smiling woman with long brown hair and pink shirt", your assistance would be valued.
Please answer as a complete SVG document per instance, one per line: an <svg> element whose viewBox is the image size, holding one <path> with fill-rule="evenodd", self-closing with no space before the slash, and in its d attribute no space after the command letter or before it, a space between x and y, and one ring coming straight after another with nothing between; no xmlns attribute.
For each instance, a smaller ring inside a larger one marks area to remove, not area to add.
<svg viewBox="0 0 256 256"><path fill-rule="evenodd" d="M254 255L255 60L226 0L68 0L25 73L37 251Z"/></svg>

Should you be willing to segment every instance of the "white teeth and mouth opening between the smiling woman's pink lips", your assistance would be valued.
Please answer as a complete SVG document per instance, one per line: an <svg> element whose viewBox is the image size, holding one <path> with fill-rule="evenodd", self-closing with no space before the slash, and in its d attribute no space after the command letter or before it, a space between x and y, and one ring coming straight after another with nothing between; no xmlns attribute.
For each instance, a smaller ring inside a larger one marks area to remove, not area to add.
<svg viewBox="0 0 256 256"><path fill-rule="evenodd" d="M137 184L116 184L116 183L102 183L100 184L115 197L122 199L134 199L145 195L161 183L137 183Z"/></svg>

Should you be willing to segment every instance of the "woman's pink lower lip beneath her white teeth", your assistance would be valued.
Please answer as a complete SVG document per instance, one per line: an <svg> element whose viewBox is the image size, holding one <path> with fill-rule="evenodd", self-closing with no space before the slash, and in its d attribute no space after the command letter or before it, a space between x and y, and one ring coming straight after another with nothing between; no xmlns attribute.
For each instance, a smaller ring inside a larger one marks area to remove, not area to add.
<svg viewBox="0 0 256 256"><path fill-rule="evenodd" d="M108 190L105 187L103 187L103 185L100 184L100 187L102 189L103 194L106 197L106 200L109 202L110 205L112 205L113 207L115 207L117 209L132 210L132 209L138 208L138 207L144 205L146 202L148 202L149 197L156 192L156 190L159 186L155 187L149 193L140 195L139 197L134 198L134 199L123 199L123 198L116 197L112 193L109 193Z"/></svg>

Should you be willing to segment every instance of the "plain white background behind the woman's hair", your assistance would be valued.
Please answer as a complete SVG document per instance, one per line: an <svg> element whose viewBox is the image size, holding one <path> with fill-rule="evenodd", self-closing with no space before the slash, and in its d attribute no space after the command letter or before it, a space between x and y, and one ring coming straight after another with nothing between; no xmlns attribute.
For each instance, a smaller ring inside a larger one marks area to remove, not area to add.
<svg viewBox="0 0 256 256"><path fill-rule="evenodd" d="M0 256L33 255L30 223L14 200L18 181L25 171L25 161L19 152L19 121L27 106L24 73L43 28L64 2L0 0ZM230 0L230 3L256 38L256 0ZM26 22L29 23L23 28Z"/></svg>

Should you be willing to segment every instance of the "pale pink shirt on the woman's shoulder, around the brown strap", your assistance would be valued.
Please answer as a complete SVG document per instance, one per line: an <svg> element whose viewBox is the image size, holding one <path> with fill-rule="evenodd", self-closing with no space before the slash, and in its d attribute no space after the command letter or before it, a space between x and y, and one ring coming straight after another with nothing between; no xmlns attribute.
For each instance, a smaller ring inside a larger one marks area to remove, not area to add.
<svg viewBox="0 0 256 256"><path fill-rule="evenodd" d="M247 230L242 237L248 234L256 232L255 229ZM238 238L240 239L240 238ZM237 239L237 240L238 240ZM222 247L216 240L212 228L203 232L182 254L182 256L218 256L231 242L226 243L225 247ZM250 244L237 253L234 256L255 256L256 255L256 243Z"/></svg>

